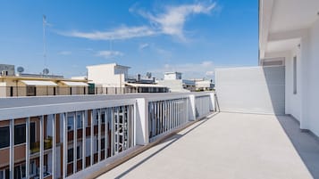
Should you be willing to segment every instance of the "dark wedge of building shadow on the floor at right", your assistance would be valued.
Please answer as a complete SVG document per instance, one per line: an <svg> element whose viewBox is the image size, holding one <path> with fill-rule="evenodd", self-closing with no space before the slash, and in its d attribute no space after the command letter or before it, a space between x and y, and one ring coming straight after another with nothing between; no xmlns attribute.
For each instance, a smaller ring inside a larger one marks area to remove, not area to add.
<svg viewBox="0 0 319 179"><path fill-rule="evenodd" d="M319 140L315 134L299 129L298 121L290 116L277 116L300 158L314 178L319 179Z"/></svg>

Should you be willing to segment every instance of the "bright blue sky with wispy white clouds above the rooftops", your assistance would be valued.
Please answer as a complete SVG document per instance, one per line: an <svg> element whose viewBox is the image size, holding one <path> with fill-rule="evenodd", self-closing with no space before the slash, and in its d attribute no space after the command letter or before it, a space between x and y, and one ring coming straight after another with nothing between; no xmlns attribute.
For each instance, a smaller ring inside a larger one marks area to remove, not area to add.
<svg viewBox="0 0 319 179"><path fill-rule="evenodd" d="M257 61L258 0L0 0L0 64L26 73L85 76L116 62L130 75L213 78Z"/></svg>

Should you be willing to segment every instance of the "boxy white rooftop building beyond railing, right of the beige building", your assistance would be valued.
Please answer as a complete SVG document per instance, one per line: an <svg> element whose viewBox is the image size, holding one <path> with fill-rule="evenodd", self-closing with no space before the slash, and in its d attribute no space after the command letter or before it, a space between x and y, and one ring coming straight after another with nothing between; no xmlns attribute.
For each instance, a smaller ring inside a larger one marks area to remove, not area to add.
<svg viewBox="0 0 319 179"><path fill-rule="evenodd" d="M124 87L130 67L116 63L88 66L88 80L103 87Z"/></svg>

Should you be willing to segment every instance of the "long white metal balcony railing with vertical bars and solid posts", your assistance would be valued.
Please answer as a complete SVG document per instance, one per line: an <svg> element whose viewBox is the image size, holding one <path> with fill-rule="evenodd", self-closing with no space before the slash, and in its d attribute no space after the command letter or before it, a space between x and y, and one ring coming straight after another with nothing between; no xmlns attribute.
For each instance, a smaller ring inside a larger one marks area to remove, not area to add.
<svg viewBox="0 0 319 179"><path fill-rule="evenodd" d="M85 177L135 146L155 142L212 110L212 93L0 100L0 132L8 129L9 137L8 146L0 141L0 151L10 154L1 157L0 166L4 172L7 167L9 178L19 174L14 171L18 160L24 166L21 177ZM25 140L16 144L15 134ZM17 151L25 153L21 159Z"/></svg>

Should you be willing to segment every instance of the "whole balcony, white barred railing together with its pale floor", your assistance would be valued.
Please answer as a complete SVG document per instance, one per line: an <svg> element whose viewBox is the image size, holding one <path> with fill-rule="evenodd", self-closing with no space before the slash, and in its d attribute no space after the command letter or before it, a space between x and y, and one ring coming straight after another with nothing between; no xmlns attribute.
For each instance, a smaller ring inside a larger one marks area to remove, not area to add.
<svg viewBox="0 0 319 179"><path fill-rule="evenodd" d="M0 104L0 119L28 114L38 116L40 126L52 124L53 139L43 140L44 150L52 149L50 159L61 161L50 160L52 178L319 176L319 143L291 134L298 128L293 118L217 112L217 106L214 93L8 98ZM80 128L68 131L68 117L73 126L81 121ZM45 152L38 153L41 168Z"/></svg>

